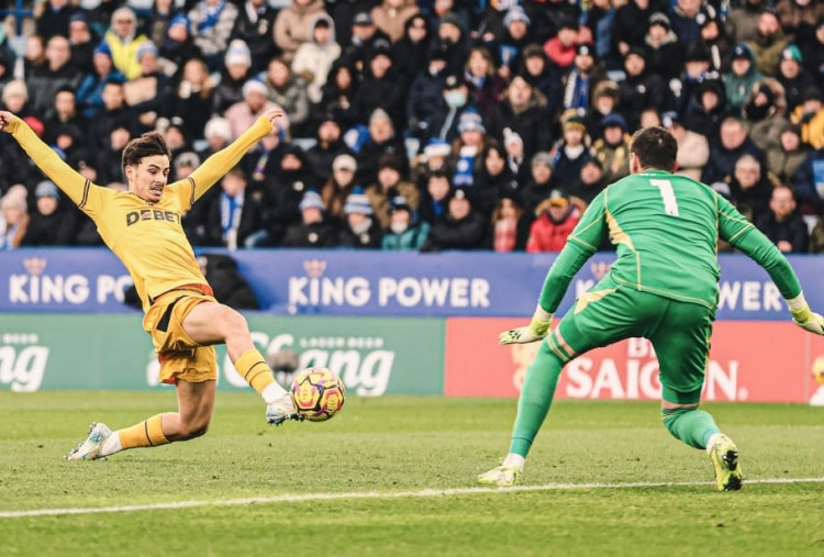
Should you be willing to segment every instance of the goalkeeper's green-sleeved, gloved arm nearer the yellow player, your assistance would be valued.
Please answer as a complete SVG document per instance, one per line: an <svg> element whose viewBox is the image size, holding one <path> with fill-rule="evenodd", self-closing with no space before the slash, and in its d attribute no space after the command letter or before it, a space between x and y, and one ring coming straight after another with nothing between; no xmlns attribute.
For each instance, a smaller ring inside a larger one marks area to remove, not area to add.
<svg viewBox="0 0 824 557"><path fill-rule="evenodd" d="M549 325L560 300L572 281L601 245L606 226L606 191L599 193L583 212L581 220L567 238L567 244L549 267L541 289L538 304L528 325L504 331L499 336L501 344L526 344L541 341L549 333Z"/></svg>

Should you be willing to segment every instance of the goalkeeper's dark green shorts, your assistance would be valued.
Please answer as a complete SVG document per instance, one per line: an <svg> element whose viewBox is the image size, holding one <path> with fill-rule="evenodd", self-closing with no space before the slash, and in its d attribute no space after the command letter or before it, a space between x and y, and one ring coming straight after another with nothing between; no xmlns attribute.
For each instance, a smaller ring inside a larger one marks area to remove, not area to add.
<svg viewBox="0 0 824 557"><path fill-rule="evenodd" d="M608 277L578 299L545 342L566 364L624 338L648 338L664 400L693 404L701 400L714 320L714 307L642 292Z"/></svg>

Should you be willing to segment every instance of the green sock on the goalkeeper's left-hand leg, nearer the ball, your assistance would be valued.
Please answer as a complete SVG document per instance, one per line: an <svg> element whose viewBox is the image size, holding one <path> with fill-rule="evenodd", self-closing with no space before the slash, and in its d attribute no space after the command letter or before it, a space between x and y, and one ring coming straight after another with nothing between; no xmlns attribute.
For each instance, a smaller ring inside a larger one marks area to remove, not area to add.
<svg viewBox="0 0 824 557"><path fill-rule="evenodd" d="M510 453L525 457L530 452L532 442L553 404L555 387L558 385L563 367L564 361L549 348L547 342L541 343L538 354L526 370L526 378L521 388Z"/></svg>

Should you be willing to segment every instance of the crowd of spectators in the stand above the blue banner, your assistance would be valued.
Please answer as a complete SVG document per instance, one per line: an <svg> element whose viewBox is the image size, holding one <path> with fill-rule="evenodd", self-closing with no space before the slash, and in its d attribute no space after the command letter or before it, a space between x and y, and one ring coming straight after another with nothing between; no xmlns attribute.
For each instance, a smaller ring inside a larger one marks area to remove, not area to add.
<svg viewBox="0 0 824 557"><path fill-rule="evenodd" d="M45 0L1 105L99 187L160 131L186 178L286 118L182 219L196 246L558 250L664 125L679 172L824 250L824 2ZM22 43L18 43L22 44ZM0 137L0 249L100 245ZM606 243L604 247L609 247Z"/></svg>

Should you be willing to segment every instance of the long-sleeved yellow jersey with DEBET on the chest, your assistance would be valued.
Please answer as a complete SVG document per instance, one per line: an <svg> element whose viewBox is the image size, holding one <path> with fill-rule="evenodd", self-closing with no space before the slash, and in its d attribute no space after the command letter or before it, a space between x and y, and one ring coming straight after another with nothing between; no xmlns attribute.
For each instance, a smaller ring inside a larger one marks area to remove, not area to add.
<svg viewBox="0 0 824 557"><path fill-rule="evenodd" d="M187 285L207 285L183 233L181 216L241 160L249 147L271 133L272 124L268 119L259 118L191 176L167 185L157 203L87 180L18 118L8 131L43 172L94 222L103 242L132 276L143 310L147 311L153 300L164 292Z"/></svg>

